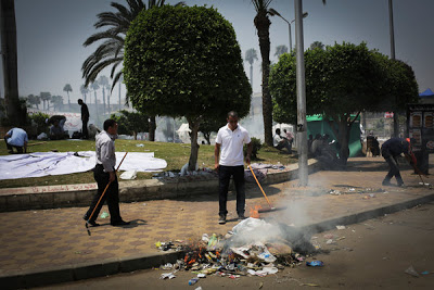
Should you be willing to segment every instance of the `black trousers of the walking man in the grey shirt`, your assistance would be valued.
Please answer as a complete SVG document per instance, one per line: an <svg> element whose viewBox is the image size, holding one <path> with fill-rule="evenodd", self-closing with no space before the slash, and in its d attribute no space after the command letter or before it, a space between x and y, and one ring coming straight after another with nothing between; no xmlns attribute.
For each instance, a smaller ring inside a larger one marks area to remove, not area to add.
<svg viewBox="0 0 434 290"><path fill-rule="evenodd" d="M101 198L102 192L104 191L105 187L108 184L110 174L104 172L104 167L101 164L97 164L93 169L93 177L98 182L98 192L93 197L92 203L88 212L85 215L86 219L89 219L90 215L92 214L93 209L95 207L98 201ZM91 222L94 222L100 214L101 207L104 204L104 201L107 202L108 212L110 212L110 223L114 224L122 220L120 211L119 211L119 184L116 179L108 186L107 191L105 191L104 197L102 198L100 204L98 205L97 210L94 211Z"/></svg>

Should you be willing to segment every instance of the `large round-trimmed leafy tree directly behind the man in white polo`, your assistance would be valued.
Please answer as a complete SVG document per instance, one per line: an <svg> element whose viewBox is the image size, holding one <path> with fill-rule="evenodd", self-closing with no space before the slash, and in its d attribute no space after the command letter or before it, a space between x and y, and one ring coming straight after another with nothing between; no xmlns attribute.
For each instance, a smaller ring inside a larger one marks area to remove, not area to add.
<svg viewBox="0 0 434 290"><path fill-rule="evenodd" d="M197 161L203 119L248 113L252 88L232 25L215 9L163 7L140 13L125 47L125 84L135 109L184 116L191 129L189 169Z"/></svg>

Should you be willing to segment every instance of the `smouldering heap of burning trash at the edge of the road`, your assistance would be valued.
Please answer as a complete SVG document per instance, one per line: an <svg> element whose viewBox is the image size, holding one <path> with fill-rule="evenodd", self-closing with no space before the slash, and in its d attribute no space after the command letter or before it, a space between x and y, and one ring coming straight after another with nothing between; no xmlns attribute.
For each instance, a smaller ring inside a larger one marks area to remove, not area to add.
<svg viewBox="0 0 434 290"><path fill-rule="evenodd" d="M207 275L231 279L241 276L264 277L285 266L301 265L316 253L309 237L295 228L283 224L271 225L253 217L240 222L225 237L204 234L196 243L181 248L186 253L184 259L176 264L162 265L161 269L170 273L162 274L161 279L175 278L178 270L190 270L197 277L195 281ZM310 263L306 262L311 266Z"/></svg>

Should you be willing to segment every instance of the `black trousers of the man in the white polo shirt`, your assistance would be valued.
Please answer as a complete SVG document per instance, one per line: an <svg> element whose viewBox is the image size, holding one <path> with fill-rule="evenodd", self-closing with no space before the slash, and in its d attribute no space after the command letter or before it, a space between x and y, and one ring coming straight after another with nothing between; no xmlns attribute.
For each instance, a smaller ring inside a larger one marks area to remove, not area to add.
<svg viewBox="0 0 434 290"><path fill-rule="evenodd" d="M244 191L244 166L224 166L218 167L218 192L219 192L219 211L218 214L228 214L226 207L228 201L228 189L230 177L233 176L233 181L237 189L237 213L244 214L245 207L245 191Z"/></svg>

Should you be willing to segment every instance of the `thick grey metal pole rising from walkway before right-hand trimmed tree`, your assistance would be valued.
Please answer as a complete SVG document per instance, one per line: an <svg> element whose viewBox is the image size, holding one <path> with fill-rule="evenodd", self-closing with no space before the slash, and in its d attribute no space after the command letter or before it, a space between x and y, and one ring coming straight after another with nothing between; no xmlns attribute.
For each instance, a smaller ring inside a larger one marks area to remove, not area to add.
<svg viewBox="0 0 434 290"><path fill-rule="evenodd" d="M297 151L299 186L307 186L307 122L306 122L306 83L303 39L303 3L294 1L295 8L295 46L297 58Z"/></svg>

